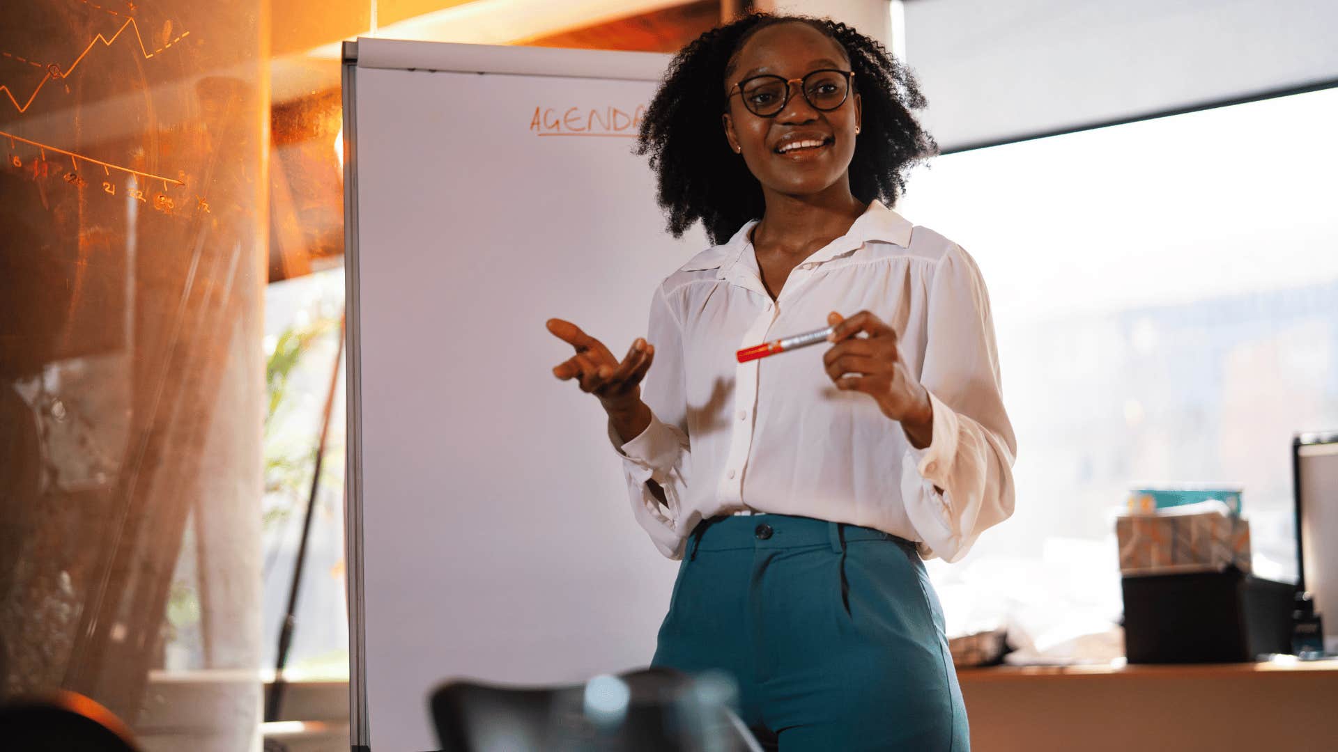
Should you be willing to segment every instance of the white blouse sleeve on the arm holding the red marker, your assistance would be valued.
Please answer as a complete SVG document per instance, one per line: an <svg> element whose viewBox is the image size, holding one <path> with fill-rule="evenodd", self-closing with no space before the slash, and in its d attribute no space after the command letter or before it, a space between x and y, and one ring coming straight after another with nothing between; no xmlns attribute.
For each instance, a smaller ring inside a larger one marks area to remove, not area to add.
<svg viewBox="0 0 1338 752"><path fill-rule="evenodd" d="M930 281L921 384L934 405L929 447L907 450L902 499L921 551L955 562L1013 514L1017 439L1004 409L989 294L958 246Z"/></svg>

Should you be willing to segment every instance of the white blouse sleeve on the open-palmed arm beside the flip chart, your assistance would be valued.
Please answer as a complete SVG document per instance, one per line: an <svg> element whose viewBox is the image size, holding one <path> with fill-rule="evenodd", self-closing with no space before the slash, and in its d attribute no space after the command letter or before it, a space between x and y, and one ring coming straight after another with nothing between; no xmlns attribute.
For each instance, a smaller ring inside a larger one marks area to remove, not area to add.
<svg viewBox="0 0 1338 752"><path fill-rule="evenodd" d="M656 290L650 302L646 341L656 356L642 387L642 400L650 407L650 424L645 431L622 443L613 426L609 440L622 455L622 470L632 498L632 512L650 534L664 555L682 558L685 535L680 533L680 499L686 486L690 454L686 430L686 396L684 392L682 328L665 297ZM654 480L665 492L668 507L646 486Z"/></svg>

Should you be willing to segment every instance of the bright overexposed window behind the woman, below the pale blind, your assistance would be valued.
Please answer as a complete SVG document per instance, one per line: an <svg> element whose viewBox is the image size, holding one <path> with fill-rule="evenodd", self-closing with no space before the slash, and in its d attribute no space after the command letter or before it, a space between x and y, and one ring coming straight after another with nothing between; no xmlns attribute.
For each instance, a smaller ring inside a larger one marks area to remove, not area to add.
<svg viewBox="0 0 1338 752"><path fill-rule="evenodd" d="M1014 518L933 567L950 632L1109 626L1140 484L1240 484L1255 573L1295 579L1291 436L1338 427L1335 119L1323 90L913 175L898 209L979 262L1018 439Z"/></svg>

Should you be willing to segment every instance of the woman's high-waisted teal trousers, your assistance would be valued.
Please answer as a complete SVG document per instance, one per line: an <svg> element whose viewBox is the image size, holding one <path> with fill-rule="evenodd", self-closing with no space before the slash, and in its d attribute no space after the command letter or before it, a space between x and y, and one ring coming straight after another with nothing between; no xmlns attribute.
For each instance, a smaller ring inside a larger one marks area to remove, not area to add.
<svg viewBox="0 0 1338 752"><path fill-rule="evenodd" d="M943 612L915 546L805 516L704 521L653 665L725 672L781 752L967 752Z"/></svg>

